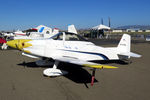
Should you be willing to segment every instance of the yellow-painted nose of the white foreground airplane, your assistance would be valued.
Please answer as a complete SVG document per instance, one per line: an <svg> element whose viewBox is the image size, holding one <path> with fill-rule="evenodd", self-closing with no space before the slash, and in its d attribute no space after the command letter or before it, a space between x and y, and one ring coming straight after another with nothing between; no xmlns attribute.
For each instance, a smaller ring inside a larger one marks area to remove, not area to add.
<svg viewBox="0 0 150 100"><path fill-rule="evenodd" d="M17 40L8 41L6 44L12 48L22 50L23 48L32 46L32 44L28 43L29 41L31 40L17 39Z"/></svg>

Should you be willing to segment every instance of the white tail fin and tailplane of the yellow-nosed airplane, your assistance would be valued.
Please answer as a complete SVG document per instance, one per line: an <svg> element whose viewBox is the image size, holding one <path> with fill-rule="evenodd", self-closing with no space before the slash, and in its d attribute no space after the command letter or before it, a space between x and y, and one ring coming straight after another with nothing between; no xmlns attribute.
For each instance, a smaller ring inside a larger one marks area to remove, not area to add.
<svg viewBox="0 0 150 100"><path fill-rule="evenodd" d="M130 52L131 50L131 36L128 34L123 34L118 46L118 55L130 57L141 57L141 55Z"/></svg>

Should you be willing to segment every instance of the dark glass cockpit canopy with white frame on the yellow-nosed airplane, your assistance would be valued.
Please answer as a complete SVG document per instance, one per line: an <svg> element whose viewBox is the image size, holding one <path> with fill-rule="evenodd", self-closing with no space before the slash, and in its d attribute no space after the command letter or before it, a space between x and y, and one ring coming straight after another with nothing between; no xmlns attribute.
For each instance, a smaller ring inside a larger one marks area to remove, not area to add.
<svg viewBox="0 0 150 100"><path fill-rule="evenodd" d="M51 39L53 40L63 40L63 38L65 39L65 41L87 41L80 35L70 32L59 32L51 37Z"/></svg>

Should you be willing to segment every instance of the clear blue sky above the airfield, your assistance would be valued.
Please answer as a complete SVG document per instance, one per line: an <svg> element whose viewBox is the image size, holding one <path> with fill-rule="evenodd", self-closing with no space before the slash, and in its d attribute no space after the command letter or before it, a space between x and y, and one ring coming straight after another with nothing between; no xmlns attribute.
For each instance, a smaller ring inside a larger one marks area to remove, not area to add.
<svg viewBox="0 0 150 100"><path fill-rule="evenodd" d="M28 29L40 24L67 29L150 25L150 0L0 0L0 30Z"/></svg>

